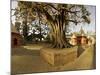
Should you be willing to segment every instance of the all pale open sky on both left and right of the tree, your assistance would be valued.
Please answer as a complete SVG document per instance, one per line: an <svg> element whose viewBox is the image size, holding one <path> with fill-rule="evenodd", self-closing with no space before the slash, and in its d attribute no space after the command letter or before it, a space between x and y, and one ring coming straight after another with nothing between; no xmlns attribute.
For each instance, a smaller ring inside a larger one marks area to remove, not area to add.
<svg viewBox="0 0 100 75"><path fill-rule="evenodd" d="M12 1L12 5L11 8L14 9L17 7L17 1ZM91 22L90 24L87 23L81 23L76 25L70 25L70 30L71 32L78 32L80 31L81 27L83 28L83 30L85 32L95 32L96 30L96 23L95 23L95 18L96 18L96 7L95 6L91 6L91 5L86 5L87 10L91 13L90 15L90 19ZM13 13L13 12L12 12ZM15 17L12 17L12 23L15 22Z"/></svg>

